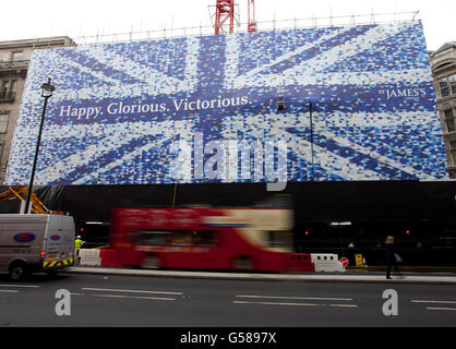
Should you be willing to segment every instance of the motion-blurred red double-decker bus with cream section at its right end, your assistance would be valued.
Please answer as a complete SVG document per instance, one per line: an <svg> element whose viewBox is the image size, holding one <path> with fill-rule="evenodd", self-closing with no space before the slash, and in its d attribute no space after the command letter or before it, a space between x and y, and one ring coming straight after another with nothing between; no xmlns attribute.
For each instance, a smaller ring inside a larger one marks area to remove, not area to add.
<svg viewBox="0 0 456 349"><path fill-rule="evenodd" d="M109 244L118 266L313 272L292 252L292 210L115 207Z"/></svg>

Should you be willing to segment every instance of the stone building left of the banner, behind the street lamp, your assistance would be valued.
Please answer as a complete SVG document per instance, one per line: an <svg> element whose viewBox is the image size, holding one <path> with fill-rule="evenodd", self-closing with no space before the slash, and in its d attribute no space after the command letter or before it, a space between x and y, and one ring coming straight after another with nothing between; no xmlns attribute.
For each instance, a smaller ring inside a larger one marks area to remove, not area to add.
<svg viewBox="0 0 456 349"><path fill-rule="evenodd" d="M0 41L0 184L4 180L32 51L63 46L75 43L67 36Z"/></svg>

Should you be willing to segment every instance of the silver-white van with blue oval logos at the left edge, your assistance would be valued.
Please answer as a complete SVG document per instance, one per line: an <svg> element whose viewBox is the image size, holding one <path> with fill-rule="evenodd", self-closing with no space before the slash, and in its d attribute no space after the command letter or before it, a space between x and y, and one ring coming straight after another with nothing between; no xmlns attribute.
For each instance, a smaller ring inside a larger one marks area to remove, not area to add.
<svg viewBox="0 0 456 349"><path fill-rule="evenodd" d="M0 215L0 272L21 280L73 265L74 220L63 215Z"/></svg>

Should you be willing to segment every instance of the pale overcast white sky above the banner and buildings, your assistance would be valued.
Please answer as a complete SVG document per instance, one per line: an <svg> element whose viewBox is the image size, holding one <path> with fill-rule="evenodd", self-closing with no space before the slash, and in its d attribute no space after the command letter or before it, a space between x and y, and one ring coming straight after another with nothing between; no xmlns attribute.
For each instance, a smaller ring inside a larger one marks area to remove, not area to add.
<svg viewBox="0 0 456 349"><path fill-rule="evenodd" d="M211 26L209 13L215 3L216 0L4 1L0 7L3 14L0 40ZM248 0L236 3L240 22L247 23ZM422 20L429 50L456 41L454 0L255 0L259 22L415 11L419 11L418 19ZM393 17L392 14L383 19ZM245 28L245 24L240 27Z"/></svg>

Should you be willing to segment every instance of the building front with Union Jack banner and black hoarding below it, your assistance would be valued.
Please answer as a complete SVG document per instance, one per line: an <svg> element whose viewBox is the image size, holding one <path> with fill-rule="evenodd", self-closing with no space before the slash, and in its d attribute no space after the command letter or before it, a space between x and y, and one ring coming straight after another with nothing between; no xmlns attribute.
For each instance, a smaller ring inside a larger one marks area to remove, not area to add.
<svg viewBox="0 0 456 349"><path fill-rule="evenodd" d="M420 22L34 51L5 185L28 184L48 77L35 185L84 240L106 242L115 205L249 206L281 182L297 251L383 261L393 234L408 261L421 242L456 265L456 182Z"/></svg>

